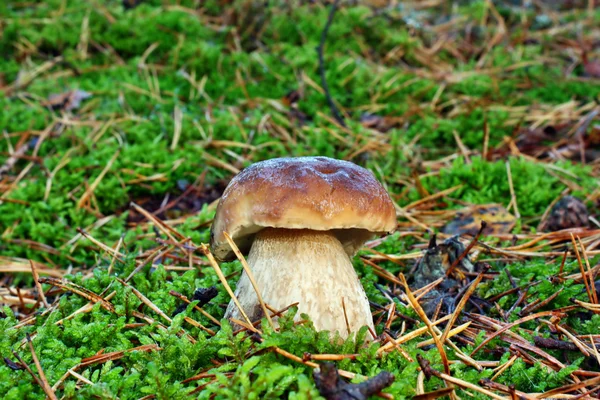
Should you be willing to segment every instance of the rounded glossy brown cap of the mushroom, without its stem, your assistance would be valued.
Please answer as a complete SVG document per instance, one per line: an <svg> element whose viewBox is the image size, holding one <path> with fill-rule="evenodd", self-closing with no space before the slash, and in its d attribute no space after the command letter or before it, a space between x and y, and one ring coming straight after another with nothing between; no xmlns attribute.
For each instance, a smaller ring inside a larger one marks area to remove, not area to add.
<svg viewBox="0 0 600 400"><path fill-rule="evenodd" d="M274 158L236 175L221 197L210 245L219 260L247 252L264 228L332 231L352 255L374 234L396 229L389 194L367 169L328 157Z"/></svg>

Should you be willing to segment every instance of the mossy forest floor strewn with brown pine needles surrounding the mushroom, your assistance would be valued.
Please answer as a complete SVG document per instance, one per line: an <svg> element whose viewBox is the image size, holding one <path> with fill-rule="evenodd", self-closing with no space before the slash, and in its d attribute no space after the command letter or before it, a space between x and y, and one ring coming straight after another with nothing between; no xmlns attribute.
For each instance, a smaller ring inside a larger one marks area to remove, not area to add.
<svg viewBox="0 0 600 400"><path fill-rule="evenodd" d="M599 48L594 1L1 2L0 397L598 398ZM397 207L370 344L222 319L225 186L315 155Z"/></svg>

